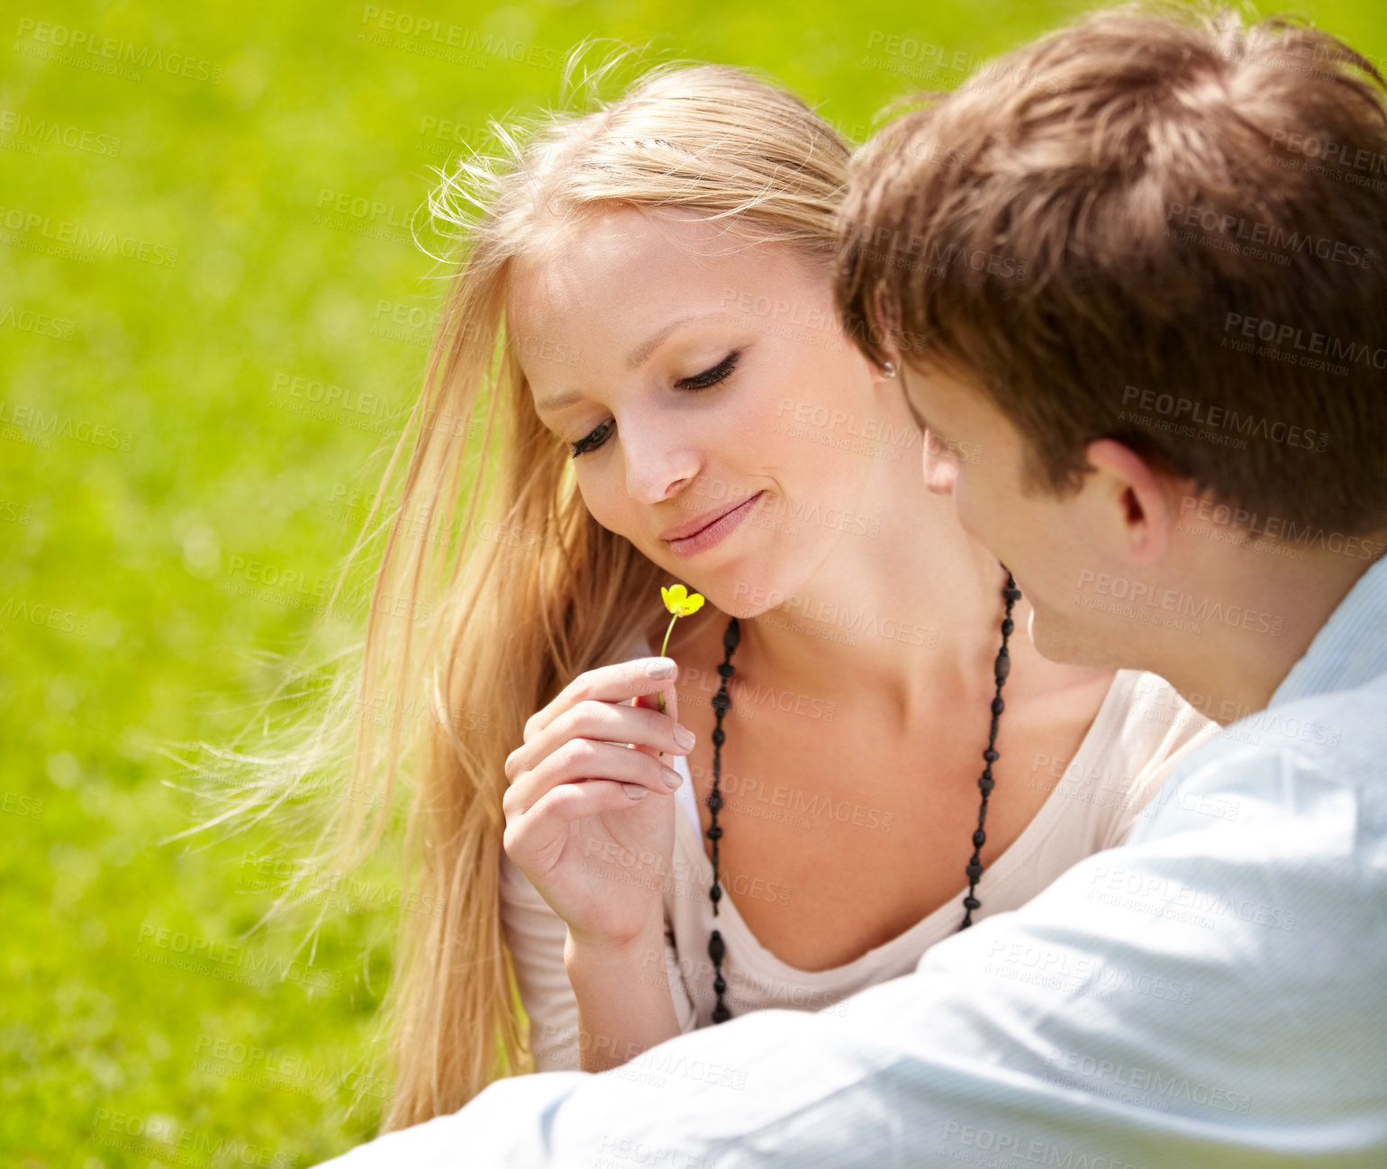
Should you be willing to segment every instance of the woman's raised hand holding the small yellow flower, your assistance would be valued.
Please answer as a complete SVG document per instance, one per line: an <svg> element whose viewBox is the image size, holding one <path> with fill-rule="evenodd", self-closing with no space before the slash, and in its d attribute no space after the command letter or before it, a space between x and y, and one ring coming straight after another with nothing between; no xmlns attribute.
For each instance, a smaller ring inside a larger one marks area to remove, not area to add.
<svg viewBox="0 0 1387 1169"><path fill-rule="evenodd" d="M677 675L669 657L589 670L526 722L506 759L506 856L578 947L614 951L663 933L681 782L667 764L694 746L675 722Z"/></svg>

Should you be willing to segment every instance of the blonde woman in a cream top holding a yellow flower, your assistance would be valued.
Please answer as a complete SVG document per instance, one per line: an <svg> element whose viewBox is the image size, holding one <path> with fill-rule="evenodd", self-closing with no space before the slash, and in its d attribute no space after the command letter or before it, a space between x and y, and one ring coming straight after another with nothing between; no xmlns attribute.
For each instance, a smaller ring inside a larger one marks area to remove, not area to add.
<svg viewBox="0 0 1387 1169"><path fill-rule="evenodd" d="M546 1069L835 1010L1121 842L1209 734L1039 657L927 488L834 313L847 157L773 85L667 68L434 200L460 259L376 594L434 639L373 605L366 657L431 711L387 1127L526 1066L526 1016ZM660 657L675 582L707 603Z"/></svg>

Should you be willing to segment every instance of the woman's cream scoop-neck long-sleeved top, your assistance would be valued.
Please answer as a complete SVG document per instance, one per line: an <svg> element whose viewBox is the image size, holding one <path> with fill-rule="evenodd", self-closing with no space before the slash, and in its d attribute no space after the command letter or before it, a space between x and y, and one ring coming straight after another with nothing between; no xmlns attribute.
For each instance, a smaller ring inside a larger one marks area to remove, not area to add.
<svg viewBox="0 0 1387 1169"><path fill-rule="evenodd" d="M651 648L642 641L631 657L649 655ZM1121 845L1137 817L1154 811L1148 800L1175 763L1216 729L1162 678L1118 671L1062 775L1040 771L1026 777L1053 785L1054 790L1011 847L983 871L976 893L982 908L974 912L974 922L1024 906L1076 861ZM664 883L664 971L652 971L652 976L669 980L680 1029L688 1032L709 1025L716 1003L713 964L707 957L707 939L714 928L707 896L713 865L703 853L688 761L675 756L673 765L684 777L675 792L684 814L677 818L674 856ZM777 806L771 793L760 795L766 796L767 817L838 811L828 800L793 811ZM741 793L736 799L756 797ZM877 824L878 831L890 831L889 817L878 817ZM727 942L724 1001L734 1018L767 1007L832 1008L867 986L913 971L931 946L957 932L965 893L967 887L960 885L956 897L903 933L825 971L802 971L782 962L757 942L731 896L724 896L716 919ZM501 921L530 1016L535 1069L577 1068L578 1007L563 968L567 926L505 854Z"/></svg>

